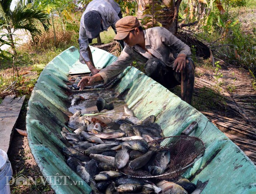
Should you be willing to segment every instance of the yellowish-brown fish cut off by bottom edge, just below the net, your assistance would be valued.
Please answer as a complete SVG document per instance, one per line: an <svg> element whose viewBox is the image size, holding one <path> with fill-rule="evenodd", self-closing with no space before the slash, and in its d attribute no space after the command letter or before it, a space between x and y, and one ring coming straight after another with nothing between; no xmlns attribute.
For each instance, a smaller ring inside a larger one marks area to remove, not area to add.
<svg viewBox="0 0 256 194"><path fill-rule="evenodd" d="M162 180L156 185L162 189L163 193L166 194L188 194L187 191L178 184L166 180Z"/></svg>

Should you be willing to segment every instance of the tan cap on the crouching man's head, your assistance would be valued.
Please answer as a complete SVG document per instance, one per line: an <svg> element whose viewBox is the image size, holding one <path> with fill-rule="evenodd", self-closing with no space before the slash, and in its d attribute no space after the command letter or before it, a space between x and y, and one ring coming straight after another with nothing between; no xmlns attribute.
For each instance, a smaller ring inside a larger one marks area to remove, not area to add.
<svg viewBox="0 0 256 194"><path fill-rule="evenodd" d="M114 40L123 40L128 36L129 31L134 30L136 27L139 27L139 20L131 15L125 16L116 22L116 31L117 34L114 37Z"/></svg>

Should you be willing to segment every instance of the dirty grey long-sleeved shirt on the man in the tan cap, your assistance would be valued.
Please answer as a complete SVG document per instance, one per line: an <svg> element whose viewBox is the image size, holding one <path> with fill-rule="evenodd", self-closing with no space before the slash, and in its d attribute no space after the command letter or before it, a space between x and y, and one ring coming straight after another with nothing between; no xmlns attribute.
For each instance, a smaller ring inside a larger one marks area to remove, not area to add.
<svg viewBox="0 0 256 194"><path fill-rule="evenodd" d="M99 74L105 83L108 82L111 77L122 72L134 60L146 63L151 57L157 57L166 65L172 66L172 62L179 54L191 55L189 46L164 27L152 27L143 30L143 33L145 37L145 47L151 54L138 45L133 47L126 45L115 62L100 70Z"/></svg>

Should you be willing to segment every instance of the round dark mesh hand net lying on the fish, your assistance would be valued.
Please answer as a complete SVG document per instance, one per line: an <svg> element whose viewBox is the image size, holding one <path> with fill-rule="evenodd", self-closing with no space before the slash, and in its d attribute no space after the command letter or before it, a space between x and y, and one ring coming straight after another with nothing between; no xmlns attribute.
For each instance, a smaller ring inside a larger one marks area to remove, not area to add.
<svg viewBox="0 0 256 194"><path fill-rule="evenodd" d="M142 168L131 169L128 165L121 170L127 176L134 178L173 179L182 174L195 163L204 153L205 146L201 139L187 135L160 138L148 143L149 150L169 150L170 162L165 172L153 176Z"/></svg>

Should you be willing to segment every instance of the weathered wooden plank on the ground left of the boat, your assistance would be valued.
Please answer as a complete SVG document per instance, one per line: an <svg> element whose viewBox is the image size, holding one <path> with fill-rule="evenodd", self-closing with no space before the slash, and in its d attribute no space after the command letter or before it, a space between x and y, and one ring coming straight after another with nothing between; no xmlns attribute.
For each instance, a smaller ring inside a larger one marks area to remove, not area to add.
<svg viewBox="0 0 256 194"><path fill-rule="evenodd" d="M8 152L24 100L25 96L15 98L11 95L6 96L0 104L0 149L5 152Z"/></svg>

